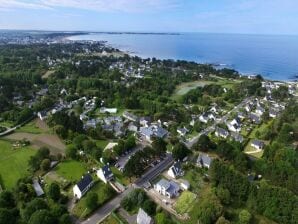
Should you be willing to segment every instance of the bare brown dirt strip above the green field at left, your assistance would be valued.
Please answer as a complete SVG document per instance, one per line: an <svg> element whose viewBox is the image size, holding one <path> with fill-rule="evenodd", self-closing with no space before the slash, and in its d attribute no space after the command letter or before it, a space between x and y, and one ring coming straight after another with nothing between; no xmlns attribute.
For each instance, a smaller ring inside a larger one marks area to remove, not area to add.
<svg viewBox="0 0 298 224"><path fill-rule="evenodd" d="M30 134L30 133L13 133L5 137L9 140L22 140L24 138L31 142L33 148L39 149L46 146L50 149L52 154L65 152L65 144L58 138L57 135L52 134Z"/></svg>

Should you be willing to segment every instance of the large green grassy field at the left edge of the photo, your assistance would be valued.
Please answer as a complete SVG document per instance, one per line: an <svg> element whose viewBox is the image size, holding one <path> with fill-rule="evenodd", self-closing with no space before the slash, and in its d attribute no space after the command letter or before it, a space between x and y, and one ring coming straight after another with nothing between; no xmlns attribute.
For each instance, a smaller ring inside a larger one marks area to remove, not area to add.
<svg viewBox="0 0 298 224"><path fill-rule="evenodd" d="M13 149L10 142L0 140L0 152L0 175L3 187L11 189L18 179L29 174L28 160L36 153L36 150L30 147Z"/></svg>

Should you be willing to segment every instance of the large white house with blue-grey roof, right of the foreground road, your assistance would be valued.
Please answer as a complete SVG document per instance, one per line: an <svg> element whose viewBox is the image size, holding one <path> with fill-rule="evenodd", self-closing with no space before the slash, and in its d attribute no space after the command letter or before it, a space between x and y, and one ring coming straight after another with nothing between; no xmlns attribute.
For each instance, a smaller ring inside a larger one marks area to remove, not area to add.
<svg viewBox="0 0 298 224"><path fill-rule="evenodd" d="M179 195L180 187L177 183L173 181L167 181L161 179L156 184L154 184L154 190L159 194L166 196L168 198L174 198Z"/></svg>

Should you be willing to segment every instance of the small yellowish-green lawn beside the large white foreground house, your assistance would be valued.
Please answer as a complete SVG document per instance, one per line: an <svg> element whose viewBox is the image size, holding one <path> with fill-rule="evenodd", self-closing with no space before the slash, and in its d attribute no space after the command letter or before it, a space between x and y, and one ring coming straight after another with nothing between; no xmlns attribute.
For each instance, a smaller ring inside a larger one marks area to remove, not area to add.
<svg viewBox="0 0 298 224"><path fill-rule="evenodd" d="M177 213L184 214L188 212L192 208L196 197L197 196L190 191L183 191L175 204Z"/></svg>

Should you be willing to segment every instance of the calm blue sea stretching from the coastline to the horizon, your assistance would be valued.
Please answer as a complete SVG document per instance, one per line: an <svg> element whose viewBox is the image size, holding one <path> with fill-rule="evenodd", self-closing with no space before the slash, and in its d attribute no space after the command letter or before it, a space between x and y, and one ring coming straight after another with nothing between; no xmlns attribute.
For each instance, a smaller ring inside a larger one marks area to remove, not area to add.
<svg viewBox="0 0 298 224"><path fill-rule="evenodd" d="M298 75L298 36L90 33L69 39L107 41L115 48L143 58L220 64L242 74L261 74L273 80L293 80Z"/></svg>

